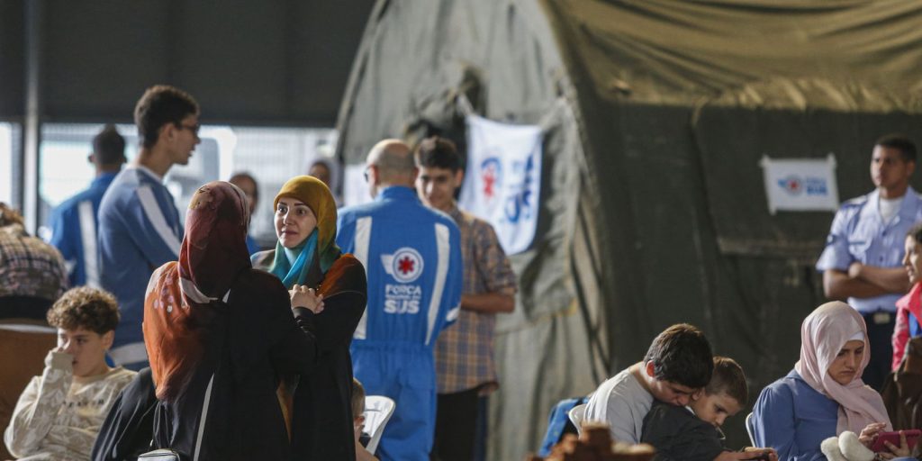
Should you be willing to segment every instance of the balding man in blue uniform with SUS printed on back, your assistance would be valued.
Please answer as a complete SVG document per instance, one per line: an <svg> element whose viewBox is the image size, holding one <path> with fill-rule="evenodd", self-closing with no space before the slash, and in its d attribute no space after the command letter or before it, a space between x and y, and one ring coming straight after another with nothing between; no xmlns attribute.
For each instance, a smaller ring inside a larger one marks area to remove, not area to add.
<svg viewBox="0 0 922 461"><path fill-rule="evenodd" d="M337 226L337 244L368 273L368 308L352 339L352 367L369 395L396 402L378 447L381 459L425 461L435 430L433 348L461 302L460 235L453 219L420 203L406 144L381 141L367 165L375 200L341 210Z"/></svg>

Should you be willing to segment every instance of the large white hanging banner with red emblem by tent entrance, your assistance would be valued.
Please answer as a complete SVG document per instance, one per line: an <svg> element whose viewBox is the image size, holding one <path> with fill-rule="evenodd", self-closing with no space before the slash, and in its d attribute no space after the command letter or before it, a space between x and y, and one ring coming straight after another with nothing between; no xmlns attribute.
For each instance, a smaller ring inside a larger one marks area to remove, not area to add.
<svg viewBox="0 0 922 461"><path fill-rule="evenodd" d="M490 221L507 254L535 239L541 195L541 129L467 117L467 172L460 207Z"/></svg>

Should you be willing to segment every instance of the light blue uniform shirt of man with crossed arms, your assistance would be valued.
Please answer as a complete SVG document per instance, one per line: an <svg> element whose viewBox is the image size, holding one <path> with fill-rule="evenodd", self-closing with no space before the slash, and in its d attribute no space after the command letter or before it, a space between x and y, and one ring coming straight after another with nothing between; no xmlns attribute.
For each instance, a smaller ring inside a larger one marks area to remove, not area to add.
<svg viewBox="0 0 922 461"><path fill-rule="evenodd" d="M835 213L826 248L816 269L848 271L859 262L868 266L903 266L906 232L922 221L922 198L912 187L906 190L900 209L889 223L881 218L880 193L877 190L848 200ZM901 295L886 294L874 298L848 298L848 304L860 313L896 312Z"/></svg>

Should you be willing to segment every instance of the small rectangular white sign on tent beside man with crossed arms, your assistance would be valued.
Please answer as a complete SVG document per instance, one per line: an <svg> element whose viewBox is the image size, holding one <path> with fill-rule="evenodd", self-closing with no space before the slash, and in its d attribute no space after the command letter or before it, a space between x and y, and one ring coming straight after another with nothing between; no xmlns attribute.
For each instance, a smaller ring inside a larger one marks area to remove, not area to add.
<svg viewBox="0 0 922 461"><path fill-rule="evenodd" d="M769 159L760 161L765 178L768 210L835 211L839 189L835 183L835 156L825 159Z"/></svg>

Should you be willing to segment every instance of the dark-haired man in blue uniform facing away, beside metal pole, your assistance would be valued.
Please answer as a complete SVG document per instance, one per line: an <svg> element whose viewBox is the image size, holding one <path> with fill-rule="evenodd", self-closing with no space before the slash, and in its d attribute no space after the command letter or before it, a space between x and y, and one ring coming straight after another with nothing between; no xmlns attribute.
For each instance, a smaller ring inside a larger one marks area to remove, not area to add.
<svg viewBox="0 0 922 461"><path fill-rule="evenodd" d="M96 250L96 219L102 195L124 164L124 137L115 125L108 124L93 138L89 162L96 168L96 179L89 189L68 198L54 208L48 226L51 244L64 256L71 287L100 287L99 252Z"/></svg>

